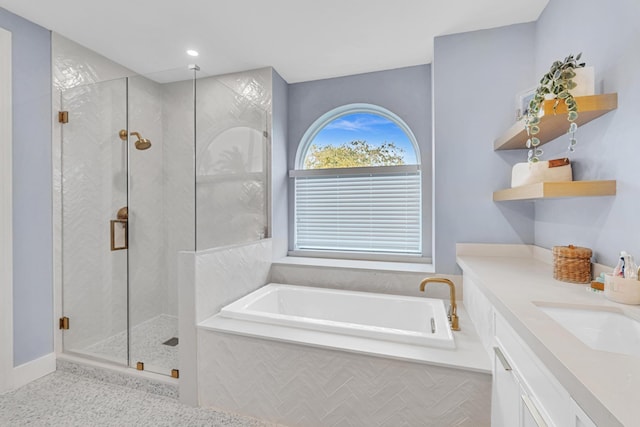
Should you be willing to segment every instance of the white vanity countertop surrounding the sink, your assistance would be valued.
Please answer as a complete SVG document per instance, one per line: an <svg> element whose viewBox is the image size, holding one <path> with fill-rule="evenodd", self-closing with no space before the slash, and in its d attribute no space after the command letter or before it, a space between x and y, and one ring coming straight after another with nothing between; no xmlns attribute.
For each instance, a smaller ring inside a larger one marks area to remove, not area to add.
<svg viewBox="0 0 640 427"><path fill-rule="evenodd" d="M552 265L534 257L535 250L528 255L526 250L510 255L502 250L498 256L463 252L457 262L464 276L477 283L597 425L640 425L640 357L591 349L536 303L613 309L638 320L640 306L609 301L603 293L588 292L588 285L553 279Z"/></svg>

